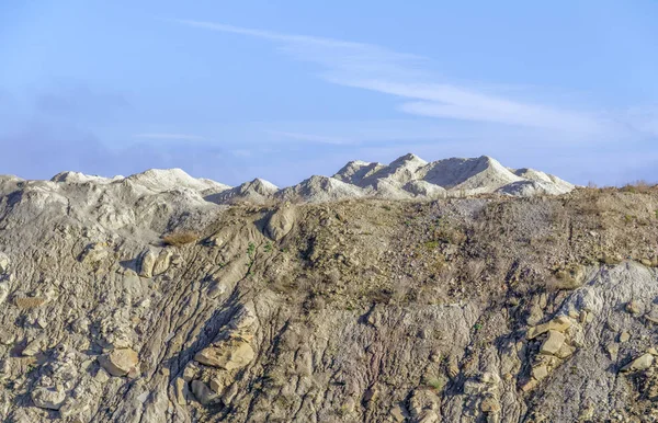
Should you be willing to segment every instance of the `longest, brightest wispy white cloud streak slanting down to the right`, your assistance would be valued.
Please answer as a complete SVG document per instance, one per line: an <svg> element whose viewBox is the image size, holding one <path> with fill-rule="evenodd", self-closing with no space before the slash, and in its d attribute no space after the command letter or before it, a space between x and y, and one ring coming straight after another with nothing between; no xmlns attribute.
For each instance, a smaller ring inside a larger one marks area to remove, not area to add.
<svg viewBox="0 0 658 423"><path fill-rule="evenodd" d="M552 129L592 139L622 129L605 116L592 113L517 101L458 84L436 83L435 78L423 70L426 58L372 44L288 35L212 22L173 22L277 43L283 52L295 59L322 66L320 75L325 80L399 98L398 110L412 115Z"/></svg>

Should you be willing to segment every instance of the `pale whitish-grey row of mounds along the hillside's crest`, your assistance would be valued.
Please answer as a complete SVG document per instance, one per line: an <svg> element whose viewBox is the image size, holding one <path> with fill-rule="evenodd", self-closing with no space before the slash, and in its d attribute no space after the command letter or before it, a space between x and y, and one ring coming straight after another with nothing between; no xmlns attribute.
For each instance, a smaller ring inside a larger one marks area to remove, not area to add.
<svg viewBox="0 0 658 423"><path fill-rule="evenodd" d="M0 181L2 180L7 181L4 183L19 181L8 176L0 178ZM98 187L128 185L149 194L186 191L191 201L205 199L220 205L238 202L265 204L272 201L322 203L361 197L436 199L479 194L526 197L565 194L575 187L557 176L541 171L504 168L487 156L427 162L411 153L394 160L390 164L351 161L332 176L314 175L284 188L279 188L262 179L230 187L207 179L195 179L181 169L151 169L127 178L111 179L63 172L49 182L94 184ZM37 182L30 181L30 183ZM42 181L42 186L55 187L46 181Z"/></svg>

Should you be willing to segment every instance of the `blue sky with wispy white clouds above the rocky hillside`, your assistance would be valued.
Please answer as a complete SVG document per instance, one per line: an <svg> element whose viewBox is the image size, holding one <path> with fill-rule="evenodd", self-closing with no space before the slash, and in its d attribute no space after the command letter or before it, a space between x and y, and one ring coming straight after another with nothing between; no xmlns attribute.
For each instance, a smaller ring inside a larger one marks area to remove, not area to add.
<svg viewBox="0 0 658 423"><path fill-rule="evenodd" d="M288 185L411 151L658 181L658 2L273 3L0 2L0 173Z"/></svg>

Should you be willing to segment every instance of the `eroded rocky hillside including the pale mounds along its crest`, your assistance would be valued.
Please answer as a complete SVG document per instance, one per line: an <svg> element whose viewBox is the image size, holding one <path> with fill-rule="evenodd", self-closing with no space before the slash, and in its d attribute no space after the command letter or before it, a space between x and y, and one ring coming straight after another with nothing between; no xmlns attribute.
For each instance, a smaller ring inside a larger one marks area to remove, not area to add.
<svg viewBox="0 0 658 423"><path fill-rule="evenodd" d="M0 176L0 419L658 421L657 210L489 158Z"/></svg>

